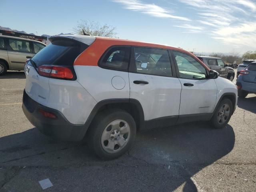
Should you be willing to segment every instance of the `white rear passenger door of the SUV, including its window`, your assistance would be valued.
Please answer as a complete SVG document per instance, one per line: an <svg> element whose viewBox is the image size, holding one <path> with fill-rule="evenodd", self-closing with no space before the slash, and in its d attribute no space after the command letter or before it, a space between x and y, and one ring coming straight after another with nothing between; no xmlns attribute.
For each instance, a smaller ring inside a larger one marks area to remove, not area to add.
<svg viewBox="0 0 256 192"><path fill-rule="evenodd" d="M169 126L178 119L181 84L168 50L132 48L130 98L142 105L145 129Z"/></svg>

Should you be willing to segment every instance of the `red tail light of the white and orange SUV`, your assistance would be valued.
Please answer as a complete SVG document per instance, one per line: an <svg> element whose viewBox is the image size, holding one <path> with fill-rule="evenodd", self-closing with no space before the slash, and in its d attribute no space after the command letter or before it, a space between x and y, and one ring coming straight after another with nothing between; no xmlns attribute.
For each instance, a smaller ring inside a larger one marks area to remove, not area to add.
<svg viewBox="0 0 256 192"><path fill-rule="evenodd" d="M63 79L72 79L74 77L70 68L63 66L41 65L38 67L38 73L46 77L55 77Z"/></svg>

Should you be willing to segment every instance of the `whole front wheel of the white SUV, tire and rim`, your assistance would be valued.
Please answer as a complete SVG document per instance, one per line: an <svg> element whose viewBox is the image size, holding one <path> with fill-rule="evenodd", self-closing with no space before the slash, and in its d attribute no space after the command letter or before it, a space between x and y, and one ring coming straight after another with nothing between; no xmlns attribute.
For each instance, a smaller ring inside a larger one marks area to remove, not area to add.
<svg viewBox="0 0 256 192"><path fill-rule="evenodd" d="M233 104L229 99L223 99L210 120L214 128L223 128L228 124L233 112Z"/></svg>

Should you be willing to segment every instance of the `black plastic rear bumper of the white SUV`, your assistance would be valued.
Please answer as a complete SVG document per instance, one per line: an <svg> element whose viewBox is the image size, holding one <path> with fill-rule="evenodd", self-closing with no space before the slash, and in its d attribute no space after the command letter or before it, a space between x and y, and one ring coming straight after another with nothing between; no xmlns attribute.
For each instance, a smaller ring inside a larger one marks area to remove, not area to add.
<svg viewBox="0 0 256 192"><path fill-rule="evenodd" d="M40 109L55 114L57 119L44 117L39 112ZM58 110L48 108L32 100L25 90L23 93L22 110L30 123L38 128L40 132L59 140L80 141L84 138L88 128L86 125L71 124Z"/></svg>

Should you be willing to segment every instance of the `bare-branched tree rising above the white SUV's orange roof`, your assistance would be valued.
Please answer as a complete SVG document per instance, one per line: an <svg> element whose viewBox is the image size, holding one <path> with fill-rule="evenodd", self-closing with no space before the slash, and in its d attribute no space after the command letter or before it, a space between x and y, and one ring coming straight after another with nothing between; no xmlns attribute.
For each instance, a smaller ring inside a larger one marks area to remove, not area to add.
<svg viewBox="0 0 256 192"><path fill-rule="evenodd" d="M116 37L116 28L104 24L101 25L99 22L93 22L88 20L80 20L77 26L73 28L74 33L82 35L84 32L92 36L102 36L102 37Z"/></svg>

